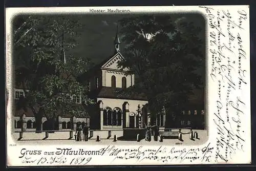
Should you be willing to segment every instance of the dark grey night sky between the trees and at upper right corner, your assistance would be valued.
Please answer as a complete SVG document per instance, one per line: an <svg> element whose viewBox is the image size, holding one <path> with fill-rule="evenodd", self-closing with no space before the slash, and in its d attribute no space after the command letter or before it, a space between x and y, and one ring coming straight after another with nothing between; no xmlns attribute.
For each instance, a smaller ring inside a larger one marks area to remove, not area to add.
<svg viewBox="0 0 256 171"><path fill-rule="evenodd" d="M166 14L171 15L174 23L179 25L181 20L194 22L196 26L203 29L199 37L205 39L204 18L197 14ZM94 63L98 63L114 53L114 38L116 35L116 24L118 20L127 15L79 15L77 17L83 24L81 37L77 39L78 46L70 51L74 55L87 57ZM118 30L120 26L118 25ZM121 40L122 35L119 33ZM121 41L120 52L123 52L125 45ZM204 51L204 49L202 49ZM68 52L69 53L69 52Z"/></svg>

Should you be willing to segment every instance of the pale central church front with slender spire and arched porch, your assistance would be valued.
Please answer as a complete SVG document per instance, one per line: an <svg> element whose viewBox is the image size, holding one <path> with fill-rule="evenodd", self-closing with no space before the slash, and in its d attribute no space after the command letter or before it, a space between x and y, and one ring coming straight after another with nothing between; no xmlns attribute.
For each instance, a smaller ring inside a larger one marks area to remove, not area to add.
<svg viewBox="0 0 256 171"><path fill-rule="evenodd" d="M121 95L120 91L134 86L135 75L129 69L120 69L118 61L124 57L120 52L118 33L114 40L115 53L91 69L83 78L88 78L90 97L97 102L89 110L90 127L99 130L142 128L150 122L145 95ZM164 127L165 115L159 115L157 124Z"/></svg>

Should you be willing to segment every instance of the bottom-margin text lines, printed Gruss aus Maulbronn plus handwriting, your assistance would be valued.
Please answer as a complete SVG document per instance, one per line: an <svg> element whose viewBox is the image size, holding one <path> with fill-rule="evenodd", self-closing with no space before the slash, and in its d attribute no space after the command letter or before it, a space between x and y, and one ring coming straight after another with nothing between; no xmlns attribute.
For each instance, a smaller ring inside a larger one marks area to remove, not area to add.
<svg viewBox="0 0 256 171"><path fill-rule="evenodd" d="M112 158L111 163L120 163L123 160L132 163L154 161L169 163L172 161L184 162L211 162L214 147L207 144L203 148L175 148L175 147L134 147L120 148L108 145L98 150L84 148L56 148L55 151L30 150L23 148L19 159L29 165L90 165L90 161L99 160L99 157Z"/></svg>

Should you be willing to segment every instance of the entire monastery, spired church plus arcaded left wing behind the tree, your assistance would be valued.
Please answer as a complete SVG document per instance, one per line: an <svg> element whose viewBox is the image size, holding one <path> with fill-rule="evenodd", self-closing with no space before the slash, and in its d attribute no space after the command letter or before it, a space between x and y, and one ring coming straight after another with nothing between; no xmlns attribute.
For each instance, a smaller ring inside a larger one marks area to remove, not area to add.
<svg viewBox="0 0 256 171"><path fill-rule="evenodd" d="M78 118L68 113L58 113L55 118L56 130L76 130L79 125L87 123L91 130L122 130L126 128L142 128L148 123L154 124L147 107L147 98L144 94L122 95L119 92L134 86L135 75L127 74L129 69L120 69L118 61L124 57L120 52L118 33L114 40L114 54L93 67L78 79L88 83L89 97L94 99L95 105L86 109L86 117ZM64 59L65 61L65 59ZM29 88L25 88L29 91ZM15 103L20 97L25 97L23 87L16 86L14 91ZM70 96L75 105L81 105L81 97ZM38 120L39 119L39 120ZM165 114L161 113L156 124L165 126ZM36 118L32 110L19 109L14 112L14 131L48 130L47 118Z"/></svg>

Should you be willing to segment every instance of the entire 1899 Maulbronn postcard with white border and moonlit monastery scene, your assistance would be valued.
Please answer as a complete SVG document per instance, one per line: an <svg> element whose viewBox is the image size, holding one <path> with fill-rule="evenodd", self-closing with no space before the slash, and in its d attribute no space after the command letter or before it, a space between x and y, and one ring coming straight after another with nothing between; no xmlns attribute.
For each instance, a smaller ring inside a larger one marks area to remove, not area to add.
<svg viewBox="0 0 256 171"><path fill-rule="evenodd" d="M250 164L249 6L6 9L7 166Z"/></svg>

